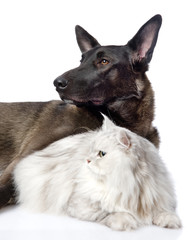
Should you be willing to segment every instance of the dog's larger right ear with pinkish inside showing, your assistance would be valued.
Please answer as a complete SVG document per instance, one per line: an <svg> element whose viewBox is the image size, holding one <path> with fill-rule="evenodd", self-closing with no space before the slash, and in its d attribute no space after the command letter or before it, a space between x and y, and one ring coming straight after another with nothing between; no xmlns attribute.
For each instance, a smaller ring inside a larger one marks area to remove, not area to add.
<svg viewBox="0 0 188 240"><path fill-rule="evenodd" d="M133 64L148 64L151 61L161 23L161 15L155 15L127 43L132 53Z"/></svg>

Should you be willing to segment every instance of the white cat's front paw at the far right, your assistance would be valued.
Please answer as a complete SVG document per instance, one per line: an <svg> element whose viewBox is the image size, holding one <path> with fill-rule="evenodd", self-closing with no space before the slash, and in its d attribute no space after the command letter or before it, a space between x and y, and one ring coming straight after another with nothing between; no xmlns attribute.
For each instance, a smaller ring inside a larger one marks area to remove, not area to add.
<svg viewBox="0 0 188 240"><path fill-rule="evenodd" d="M175 213L162 212L153 218L153 224L164 227L178 229L182 227L181 220Z"/></svg>

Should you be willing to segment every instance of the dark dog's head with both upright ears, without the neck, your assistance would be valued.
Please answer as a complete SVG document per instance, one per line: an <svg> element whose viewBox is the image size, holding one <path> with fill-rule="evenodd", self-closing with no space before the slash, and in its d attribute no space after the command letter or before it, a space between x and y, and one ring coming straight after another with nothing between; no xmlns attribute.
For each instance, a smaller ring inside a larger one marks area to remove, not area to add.
<svg viewBox="0 0 188 240"><path fill-rule="evenodd" d="M61 99L75 104L104 105L117 98L141 98L140 86L144 85L143 76L148 70L161 23L161 16L154 16L122 46L101 46L87 31L76 26L81 64L54 81Z"/></svg>

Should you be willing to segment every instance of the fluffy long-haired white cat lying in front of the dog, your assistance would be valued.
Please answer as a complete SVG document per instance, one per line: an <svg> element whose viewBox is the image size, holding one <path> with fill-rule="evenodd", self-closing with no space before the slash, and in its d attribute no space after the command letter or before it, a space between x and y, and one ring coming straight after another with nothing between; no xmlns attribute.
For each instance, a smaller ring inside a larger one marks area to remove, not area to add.
<svg viewBox="0 0 188 240"><path fill-rule="evenodd" d="M174 189L158 150L115 126L69 136L24 158L14 171L17 202L115 230L179 228Z"/></svg>

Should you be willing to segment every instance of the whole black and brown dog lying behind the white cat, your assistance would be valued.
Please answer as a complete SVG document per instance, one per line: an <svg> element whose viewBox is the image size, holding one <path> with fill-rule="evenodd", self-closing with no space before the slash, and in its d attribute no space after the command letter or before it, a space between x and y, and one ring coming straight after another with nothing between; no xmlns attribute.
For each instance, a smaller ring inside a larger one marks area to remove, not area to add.
<svg viewBox="0 0 188 240"><path fill-rule="evenodd" d="M96 129L100 112L158 147L154 94L145 72L161 22L160 15L154 16L123 46L101 46L77 26L81 64L54 81L63 102L0 104L0 206L13 194L17 162L60 138Z"/></svg>

